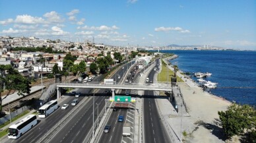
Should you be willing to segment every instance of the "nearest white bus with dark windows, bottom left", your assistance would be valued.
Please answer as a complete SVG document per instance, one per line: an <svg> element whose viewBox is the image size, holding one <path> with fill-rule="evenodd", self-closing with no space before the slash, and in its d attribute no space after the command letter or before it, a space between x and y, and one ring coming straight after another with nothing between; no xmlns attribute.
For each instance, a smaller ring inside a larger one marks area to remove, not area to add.
<svg viewBox="0 0 256 143"><path fill-rule="evenodd" d="M36 115L28 115L24 119L18 121L18 123L11 125L9 127L8 138L19 138L26 131L32 129L38 121L36 120Z"/></svg>

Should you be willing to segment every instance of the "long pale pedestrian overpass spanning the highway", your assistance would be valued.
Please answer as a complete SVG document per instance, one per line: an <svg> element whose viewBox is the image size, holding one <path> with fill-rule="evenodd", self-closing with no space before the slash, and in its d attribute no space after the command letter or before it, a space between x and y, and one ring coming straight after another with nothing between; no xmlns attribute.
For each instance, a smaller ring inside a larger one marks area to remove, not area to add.
<svg viewBox="0 0 256 143"><path fill-rule="evenodd" d="M57 83L57 98L61 97L61 88L94 88L94 89L112 89L114 90L153 90L172 92L172 84L143 84L143 83L125 83L104 84L104 82L87 82L87 83ZM115 93L112 92L112 97Z"/></svg>

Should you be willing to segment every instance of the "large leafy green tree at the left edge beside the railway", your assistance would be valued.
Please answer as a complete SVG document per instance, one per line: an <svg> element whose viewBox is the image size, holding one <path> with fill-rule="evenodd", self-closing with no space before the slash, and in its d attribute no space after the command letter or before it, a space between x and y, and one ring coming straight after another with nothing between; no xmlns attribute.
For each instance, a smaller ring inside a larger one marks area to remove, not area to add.
<svg viewBox="0 0 256 143"><path fill-rule="evenodd" d="M30 93L30 80L22 76L18 71L13 69L11 65L0 65L0 81L5 85L7 92L7 98L10 94L18 92L18 96L25 96L24 94ZM2 89L1 89L2 90ZM0 94L0 111L2 111L2 101L5 98L1 98Z"/></svg>

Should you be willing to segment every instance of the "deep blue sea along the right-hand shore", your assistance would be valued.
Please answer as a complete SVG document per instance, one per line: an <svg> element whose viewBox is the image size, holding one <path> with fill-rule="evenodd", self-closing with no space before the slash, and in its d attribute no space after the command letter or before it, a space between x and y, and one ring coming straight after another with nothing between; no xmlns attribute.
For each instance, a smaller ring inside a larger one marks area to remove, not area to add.
<svg viewBox="0 0 256 143"><path fill-rule="evenodd" d="M210 72L217 82L208 92L229 101L256 107L256 51L162 50L178 55L170 62L183 72ZM197 78L192 76L193 80Z"/></svg>

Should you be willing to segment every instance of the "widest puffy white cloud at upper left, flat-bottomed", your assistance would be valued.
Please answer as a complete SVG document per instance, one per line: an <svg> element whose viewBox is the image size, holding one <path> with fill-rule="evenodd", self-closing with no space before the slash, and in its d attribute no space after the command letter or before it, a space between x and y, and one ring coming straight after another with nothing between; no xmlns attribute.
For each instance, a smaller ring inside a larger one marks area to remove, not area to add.
<svg viewBox="0 0 256 143"><path fill-rule="evenodd" d="M22 24L44 24L46 21L42 17L34 17L30 16L28 14L24 15L17 15L15 19L16 23L22 23Z"/></svg>

